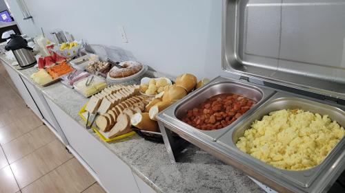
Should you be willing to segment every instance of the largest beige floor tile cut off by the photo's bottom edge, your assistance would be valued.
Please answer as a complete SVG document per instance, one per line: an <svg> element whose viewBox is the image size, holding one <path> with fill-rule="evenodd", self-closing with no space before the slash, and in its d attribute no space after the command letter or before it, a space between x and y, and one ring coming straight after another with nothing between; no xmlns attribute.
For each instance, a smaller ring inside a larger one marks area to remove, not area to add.
<svg viewBox="0 0 345 193"><path fill-rule="evenodd" d="M41 179L34 181L22 192L82 192L92 183L95 183L95 179L81 166L77 159L73 158Z"/></svg>

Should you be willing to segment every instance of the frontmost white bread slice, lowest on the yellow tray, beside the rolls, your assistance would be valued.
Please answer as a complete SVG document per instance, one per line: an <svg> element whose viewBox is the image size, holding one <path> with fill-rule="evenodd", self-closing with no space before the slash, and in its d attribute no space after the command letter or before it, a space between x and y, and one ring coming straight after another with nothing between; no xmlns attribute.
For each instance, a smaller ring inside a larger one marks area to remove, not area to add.
<svg viewBox="0 0 345 193"><path fill-rule="evenodd" d="M130 117L124 113L121 113L119 117L117 117L117 122L110 130L108 137L113 138L119 135L124 135L130 132L130 130Z"/></svg>

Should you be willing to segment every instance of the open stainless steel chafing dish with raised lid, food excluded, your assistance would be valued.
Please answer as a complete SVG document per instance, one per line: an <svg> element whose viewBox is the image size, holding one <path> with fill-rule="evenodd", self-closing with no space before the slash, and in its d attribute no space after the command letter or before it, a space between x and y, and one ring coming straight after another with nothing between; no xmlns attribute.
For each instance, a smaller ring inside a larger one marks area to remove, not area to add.
<svg viewBox="0 0 345 193"><path fill-rule="evenodd" d="M280 109L329 115L345 126L345 3L224 0L223 8L221 65L236 78L215 78L157 115L171 161L189 141L278 192L326 192L345 169L345 138L322 163L302 171L274 168L235 144L255 120ZM218 93L258 103L219 130L181 122L186 110Z"/></svg>

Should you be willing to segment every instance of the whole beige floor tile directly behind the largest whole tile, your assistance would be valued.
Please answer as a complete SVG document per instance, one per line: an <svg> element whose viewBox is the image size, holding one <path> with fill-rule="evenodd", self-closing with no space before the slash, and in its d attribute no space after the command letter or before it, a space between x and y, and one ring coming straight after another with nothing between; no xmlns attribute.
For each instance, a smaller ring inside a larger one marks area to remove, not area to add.
<svg viewBox="0 0 345 193"><path fill-rule="evenodd" d="M21 135L7 144L3 145L3 151L6 154L9 163L13 163L30 152L41 148L55 139L55 135L47 126L39 126L29 133Z"/></svg>

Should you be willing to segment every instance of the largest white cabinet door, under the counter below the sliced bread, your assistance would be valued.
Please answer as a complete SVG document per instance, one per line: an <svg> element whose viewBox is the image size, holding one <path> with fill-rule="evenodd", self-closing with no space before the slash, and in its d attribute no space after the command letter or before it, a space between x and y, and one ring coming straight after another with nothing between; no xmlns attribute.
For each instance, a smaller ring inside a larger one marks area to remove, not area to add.
<svg viewBox="0 0 345 193"><path fill-rule="evenodd" d="M50 100L47 102L70 146L95 171L101 184L108 192L140 193L132 170L126 163L88 133L86 128L63 112L59 106Z"/></svg>

